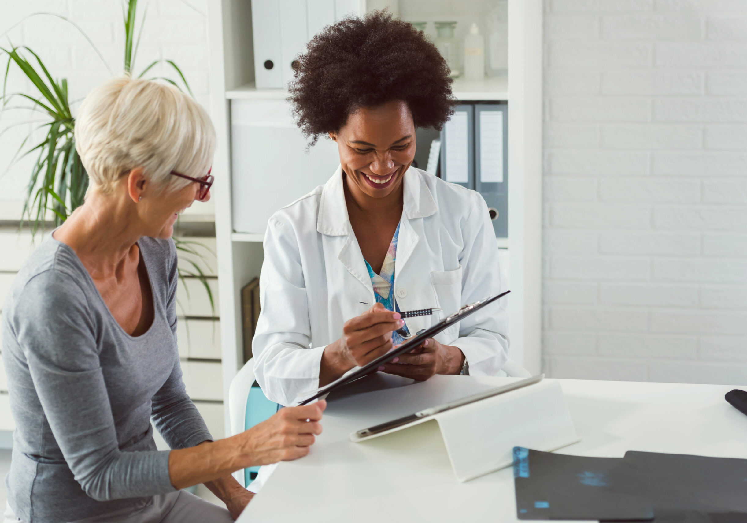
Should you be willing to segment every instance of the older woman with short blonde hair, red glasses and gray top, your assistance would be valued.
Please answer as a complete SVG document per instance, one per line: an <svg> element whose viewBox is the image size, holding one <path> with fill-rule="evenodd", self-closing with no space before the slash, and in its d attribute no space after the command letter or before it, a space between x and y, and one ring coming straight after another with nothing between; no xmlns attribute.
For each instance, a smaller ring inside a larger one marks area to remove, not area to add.
<svg viewBox="0 0 747 523"><path fill-rule="evenodd" d="M210 198L214 129L173 87L117 78L81 106L84 205L19 272L2 355L16 421L6 522L229 522L230 475L309 452L324 403L213 442L176 348L180 211ZM153 420L173 449L157 451ZM228 507L179 490L205 483Z"/></svg>

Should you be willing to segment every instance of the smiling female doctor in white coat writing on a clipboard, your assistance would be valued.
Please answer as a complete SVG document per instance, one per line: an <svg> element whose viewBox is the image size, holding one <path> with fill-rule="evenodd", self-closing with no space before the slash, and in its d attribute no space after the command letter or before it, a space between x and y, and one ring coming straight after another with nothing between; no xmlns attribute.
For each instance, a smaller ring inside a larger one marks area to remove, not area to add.
<svg viewBox="0 0 747 523"><path fill-rule="evenodd" d="M331 25L299 58L291 103L340 167L267 225L261 315L253 341L264 394L297 394L365 365L462 305L503 288L482 196L412 167L415 128L453 114L449 67L421 31L375 12ZM438 308L409 318L397 311ZM495 375L506 361L506 310L494 304L379 371Z"/></svg>

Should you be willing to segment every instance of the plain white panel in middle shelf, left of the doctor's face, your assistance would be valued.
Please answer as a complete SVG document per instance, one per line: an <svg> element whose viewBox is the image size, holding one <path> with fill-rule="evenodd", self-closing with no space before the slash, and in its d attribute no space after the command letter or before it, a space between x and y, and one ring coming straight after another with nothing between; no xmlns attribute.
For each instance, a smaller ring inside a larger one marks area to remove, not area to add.
<svg viewBox="0 0 747 523"><path fill-rule="evenodd" d="M264 235L267 220L335 172L337 144L328 137L306 149L308 140L284 99L231 101L233 228Z"/></svg>

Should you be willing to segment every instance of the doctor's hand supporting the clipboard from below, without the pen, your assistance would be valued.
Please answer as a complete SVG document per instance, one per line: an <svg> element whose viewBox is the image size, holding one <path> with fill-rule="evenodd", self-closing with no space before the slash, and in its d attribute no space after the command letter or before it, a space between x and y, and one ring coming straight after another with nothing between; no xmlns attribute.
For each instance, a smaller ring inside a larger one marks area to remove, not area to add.
<svg viewBox="0 0 747 523"><path fill-rule="evenodd" d="M409 353L400 354L391 363L379 367L379 371L425 381L434 374L459 374L463 362L464 354L459 347L428 338Z"/></svg>

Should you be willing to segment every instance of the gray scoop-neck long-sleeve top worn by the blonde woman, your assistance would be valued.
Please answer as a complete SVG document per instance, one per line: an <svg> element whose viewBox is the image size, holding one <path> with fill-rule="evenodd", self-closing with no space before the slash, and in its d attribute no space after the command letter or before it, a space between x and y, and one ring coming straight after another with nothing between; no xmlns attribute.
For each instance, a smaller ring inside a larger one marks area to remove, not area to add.
<svg viewBox="0 0 747 523"><path fill-rule="evenodd" d="M75 252L49 236L16 276L2 356L16 421L8 502L28 523L69 522L174 490L171 448L211 439L187 396L176 347L176 248L138 241L155 317L128 335Z"/></svg>

